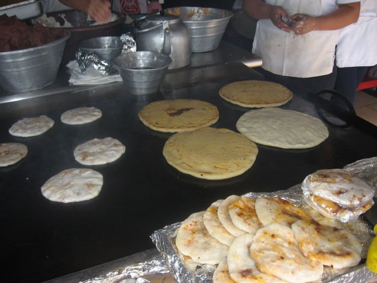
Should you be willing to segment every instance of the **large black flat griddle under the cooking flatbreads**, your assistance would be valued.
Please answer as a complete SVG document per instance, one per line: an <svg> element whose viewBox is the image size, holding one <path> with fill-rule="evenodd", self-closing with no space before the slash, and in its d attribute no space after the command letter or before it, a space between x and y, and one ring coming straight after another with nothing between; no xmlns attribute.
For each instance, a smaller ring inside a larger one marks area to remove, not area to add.
<svg viewBox="0 0 377 283"><path fill-rule="evenodd" d="M153 231L202 211L231 194L276 191L301 183L323 168L342 168L377 155L376 127L357 117L348 126L325 122L329 138L310 149L279 149L257 145L259 154L244 174L219 181L202 180L168 165L162 148L170 133L153 131L139 121L144 105L161 99L193 98L219 109L216 128L236 130L236 121L248 108L232 105L219 89L237 80L262 79L241 63L216 64L170 71L161 93L135 97L122 83L73 89L0 104L1 142L20 142L28 155L0 168L0 221L3 270L11 281L41 282L100 265L154 247ZM284 109L337 120L323 100L298 89ZM60 115L79 106L94 106L103 116L85 125L66 125ZM36 137L18 138L8 133L20 118L47 115L55 125ZM83 166L75 161L74 148L92 138L113 137L126 153L107 165ZM58 203L41 195L40 187L53 175L69 168L91 168L104 177L98 197L79 203ZM376 212L375 207L373 208ZM369 211L368 215L372 215Z"/></svg>

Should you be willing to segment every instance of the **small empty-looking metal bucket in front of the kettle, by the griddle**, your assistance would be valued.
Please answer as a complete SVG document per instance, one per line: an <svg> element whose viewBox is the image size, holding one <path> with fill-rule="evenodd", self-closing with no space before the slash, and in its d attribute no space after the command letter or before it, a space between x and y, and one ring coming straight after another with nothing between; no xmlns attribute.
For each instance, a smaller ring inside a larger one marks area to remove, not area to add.
<svg viewBox="0 0 377 283"><path fill-rule="evenodd" d="M172 59L152 51L136 51L113 59L128 92L134 95L152 94L159 91Z"/></svg>

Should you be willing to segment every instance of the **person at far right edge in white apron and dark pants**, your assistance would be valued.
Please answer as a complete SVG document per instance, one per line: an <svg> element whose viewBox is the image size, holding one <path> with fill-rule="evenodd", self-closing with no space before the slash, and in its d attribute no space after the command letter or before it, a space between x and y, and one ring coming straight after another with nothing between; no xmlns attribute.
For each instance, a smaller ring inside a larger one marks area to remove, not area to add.
<svg viewBox="0 0 377 283"><path fill-rule="evenodd" d="M334 90L355 104L356 89L368 69L377 64L377 0L361 0L356 23L339 31L336 47L337 76ZM343 103L336 97L331 100Z"/></svg>

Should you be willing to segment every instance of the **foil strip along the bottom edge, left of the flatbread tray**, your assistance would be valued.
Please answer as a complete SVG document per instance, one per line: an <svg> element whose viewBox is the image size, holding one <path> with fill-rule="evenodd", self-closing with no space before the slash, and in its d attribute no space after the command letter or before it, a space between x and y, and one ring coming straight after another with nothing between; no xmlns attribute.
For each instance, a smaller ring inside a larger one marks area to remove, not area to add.
<svg viewBox="0 0 377 283"><path fill-rule="evenodd" d="M149 282L143 278L145 275L168 272L166 261L159 257L78 283L145 283Z"/></svg>

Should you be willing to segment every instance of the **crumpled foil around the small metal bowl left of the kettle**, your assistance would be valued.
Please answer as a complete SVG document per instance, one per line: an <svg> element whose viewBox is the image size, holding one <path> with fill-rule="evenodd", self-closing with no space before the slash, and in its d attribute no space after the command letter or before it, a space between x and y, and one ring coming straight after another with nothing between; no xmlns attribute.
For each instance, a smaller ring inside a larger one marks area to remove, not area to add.
<svg viewBox="0 0 377 283"><path fill-rule="evenodd" d="M120 36L121 41L123 42L123 48L121 54L135 52L136 51L136 42L133 39L130 32L127 34L122 34ZM80 70L85 74L86 69L93 65L94 69L100 72L103 75L115 75L118 74L118 70L110 63L100 60L98 56L94 53L84 53L80 48L76 52L76 60L80 66Z"/></svg>

